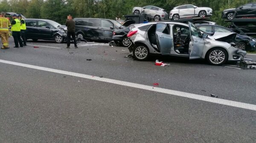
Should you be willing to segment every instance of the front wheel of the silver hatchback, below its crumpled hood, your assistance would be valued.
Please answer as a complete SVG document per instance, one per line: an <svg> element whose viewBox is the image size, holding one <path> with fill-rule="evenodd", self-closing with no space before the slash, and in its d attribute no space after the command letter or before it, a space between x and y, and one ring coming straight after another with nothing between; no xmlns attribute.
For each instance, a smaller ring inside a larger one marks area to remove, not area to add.
<svg viewBox="0 0 256 143"><path fill-rule="evenodd" d="M206 60L212 65L222 65L228 60L227 51L223 48L212 48L206 54Z"/></svg>

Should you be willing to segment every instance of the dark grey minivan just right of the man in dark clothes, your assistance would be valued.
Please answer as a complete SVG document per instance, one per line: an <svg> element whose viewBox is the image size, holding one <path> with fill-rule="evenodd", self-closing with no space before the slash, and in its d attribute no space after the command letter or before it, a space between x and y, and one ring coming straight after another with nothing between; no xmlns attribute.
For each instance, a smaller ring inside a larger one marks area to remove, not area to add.
<svg viewBox="0 0 256 143"><path fill-rule="evenodd" d="M75 18L76 36L89 41L110 42L113 31L124 28L121 23L115 20L99 18Z"/></svg>

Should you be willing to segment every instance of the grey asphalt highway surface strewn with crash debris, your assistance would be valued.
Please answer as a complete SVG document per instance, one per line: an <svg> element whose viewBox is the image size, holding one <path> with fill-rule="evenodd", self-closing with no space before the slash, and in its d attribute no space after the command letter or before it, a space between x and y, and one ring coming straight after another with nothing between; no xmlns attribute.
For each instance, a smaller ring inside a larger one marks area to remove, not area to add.
<svg viewBox="0 0 256 143"><path fill-rule="evenodd" d="M255 143L256 70L140 62L104 43L10 43L0 50L0 143ZM218 101L204 101L211 94Z"/></svg>

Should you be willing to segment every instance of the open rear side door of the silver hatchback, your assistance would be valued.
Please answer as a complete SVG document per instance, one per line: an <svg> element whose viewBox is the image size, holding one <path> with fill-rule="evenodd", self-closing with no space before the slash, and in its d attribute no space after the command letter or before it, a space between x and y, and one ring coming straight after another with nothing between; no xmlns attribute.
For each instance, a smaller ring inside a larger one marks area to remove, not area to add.
<svg viewBox="0 0 256 143"><path fill-rule="evenodd" d="M170 35L169 26L166 23L157 23L156 28L157 47L162 55L171 53L173 38Z"/></svg>

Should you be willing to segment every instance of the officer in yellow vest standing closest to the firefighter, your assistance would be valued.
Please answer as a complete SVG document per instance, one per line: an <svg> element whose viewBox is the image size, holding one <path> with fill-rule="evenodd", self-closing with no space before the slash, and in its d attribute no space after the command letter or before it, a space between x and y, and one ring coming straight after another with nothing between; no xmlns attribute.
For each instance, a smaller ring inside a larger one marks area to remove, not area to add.
<svg viewBox="0 0 256 143"><path fill-rule="evenodd" d="M17 19L17 15L13 14L12 15L12 36L14 39L15 47L14 48L19 48L19 43L20 47L23 47L22 40L20 38L20 20Z"/></svg>

